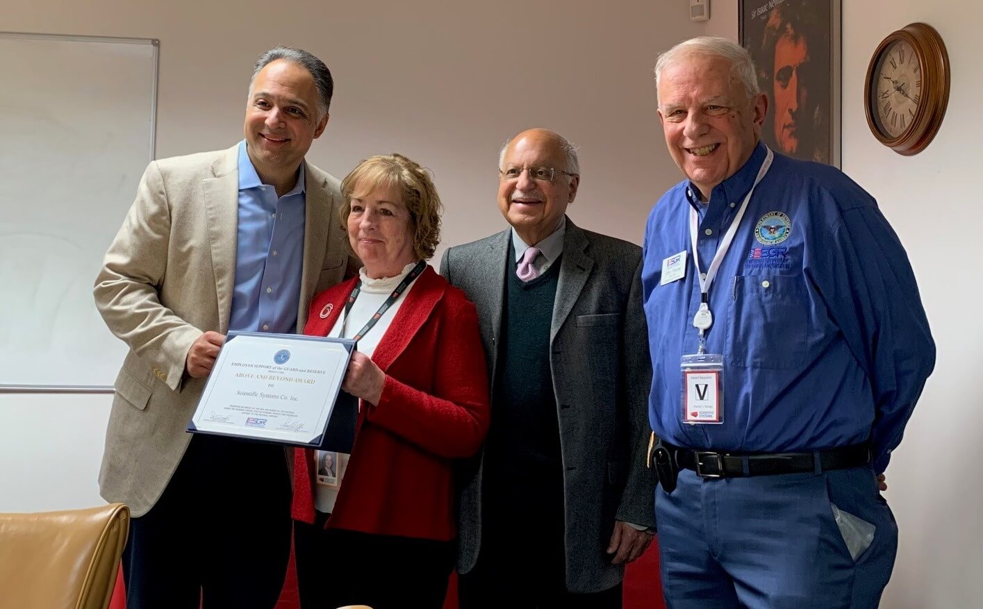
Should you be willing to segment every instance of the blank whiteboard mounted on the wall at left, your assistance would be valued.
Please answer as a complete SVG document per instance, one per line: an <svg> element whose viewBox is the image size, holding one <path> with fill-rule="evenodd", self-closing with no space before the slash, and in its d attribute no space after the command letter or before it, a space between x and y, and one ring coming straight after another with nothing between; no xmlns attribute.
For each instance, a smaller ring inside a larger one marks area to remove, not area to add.
<svg viewBox="0 0 983 609"><path fill-rule="evenodd" d="M116 377L92 284L153 159L157 48L0 32L0 390Z"/></svg>

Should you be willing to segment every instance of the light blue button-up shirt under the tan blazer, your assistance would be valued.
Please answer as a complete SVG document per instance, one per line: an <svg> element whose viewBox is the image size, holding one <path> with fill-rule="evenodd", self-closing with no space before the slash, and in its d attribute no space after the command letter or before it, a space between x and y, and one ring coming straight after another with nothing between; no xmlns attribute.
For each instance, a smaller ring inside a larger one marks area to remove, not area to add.
<svg viewBox="0 0 983 609"><path fill-rule="evenodd" d="M304 164L297 186L277 198L239 143L239 228L230 330L293 333L304 263Z"/></svg>

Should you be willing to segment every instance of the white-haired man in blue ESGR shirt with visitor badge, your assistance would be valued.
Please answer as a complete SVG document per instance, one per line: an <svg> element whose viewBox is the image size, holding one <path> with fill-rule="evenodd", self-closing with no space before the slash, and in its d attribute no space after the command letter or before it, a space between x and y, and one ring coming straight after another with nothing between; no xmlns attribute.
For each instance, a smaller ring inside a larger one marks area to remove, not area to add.
<svg viewBox="0 0 983 609"><path fill-rule="evenodd" d="M656 80L687 178L642 270L666 601L876 607L897 529L875 476L935 362L904 249L837 169L761 143L736 43L682 42Z"/></svg>

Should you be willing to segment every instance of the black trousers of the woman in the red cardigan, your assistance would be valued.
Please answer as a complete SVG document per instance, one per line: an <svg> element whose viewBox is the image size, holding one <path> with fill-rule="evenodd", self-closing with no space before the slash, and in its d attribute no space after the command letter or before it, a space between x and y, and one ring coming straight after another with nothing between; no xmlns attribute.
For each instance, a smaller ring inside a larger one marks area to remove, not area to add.
<svg viewBox="0 0 983 609"><path fill-rule="evenodd" d="M302 609L369 605L440 609L453 569L451 541L376 535L294 523Z"/></svg>

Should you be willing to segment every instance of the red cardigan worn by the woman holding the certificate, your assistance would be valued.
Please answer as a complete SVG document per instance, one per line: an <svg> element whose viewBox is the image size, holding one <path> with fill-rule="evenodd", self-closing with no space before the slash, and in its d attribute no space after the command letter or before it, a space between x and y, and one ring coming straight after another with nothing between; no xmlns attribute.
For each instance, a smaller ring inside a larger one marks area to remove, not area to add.
<svg viewBox="0 0 983 609"><path fill-rule="evenodd" d="M326 336L357 278L311 304L304 333ZM331 307L326 307L330 304ZM326 317L320 313L329 309ZM428 266L373 355L385 384L362 403L352 456L326 527L449 540L456 534L453 460L478 452L490 419L475 305ZM314 523L314 451L294 453L293 516Z"/></svg>

